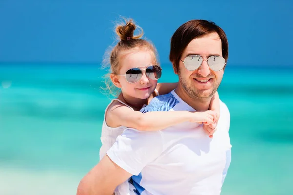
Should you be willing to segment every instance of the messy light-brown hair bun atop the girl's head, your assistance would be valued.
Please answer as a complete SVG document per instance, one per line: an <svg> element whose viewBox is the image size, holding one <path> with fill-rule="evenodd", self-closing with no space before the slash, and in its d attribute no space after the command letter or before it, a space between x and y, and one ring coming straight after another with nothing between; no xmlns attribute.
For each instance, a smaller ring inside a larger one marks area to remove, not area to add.
<svg viewBox="0 0 293 195"><path fill-rule="evenodd" d="M133 36L134 31L136 29L136 25L133 22L133 19L130 20L126 20L125 19L126 24L125 25L118 25L116 27L116 33L117 35L120 37L120 40L130 40L130 39L139 39L142 37L143 33L141 33L138 36Z"/></svg>

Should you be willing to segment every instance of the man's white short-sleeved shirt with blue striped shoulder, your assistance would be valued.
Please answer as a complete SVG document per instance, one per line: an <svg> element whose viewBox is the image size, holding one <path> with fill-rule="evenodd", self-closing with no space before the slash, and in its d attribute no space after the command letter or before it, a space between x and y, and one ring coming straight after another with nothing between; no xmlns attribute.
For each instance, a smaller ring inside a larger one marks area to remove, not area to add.
<svg viewBox="0 0 293 195"><path fill-rule="evenodd" d="M141 112L179 110L195 111L173 90L155 97ZM198 123L160 131L127 128L107 155L133 175L138 195L219 195L231 161L229 127L229 110L220 101L212 139Z"/></svg>

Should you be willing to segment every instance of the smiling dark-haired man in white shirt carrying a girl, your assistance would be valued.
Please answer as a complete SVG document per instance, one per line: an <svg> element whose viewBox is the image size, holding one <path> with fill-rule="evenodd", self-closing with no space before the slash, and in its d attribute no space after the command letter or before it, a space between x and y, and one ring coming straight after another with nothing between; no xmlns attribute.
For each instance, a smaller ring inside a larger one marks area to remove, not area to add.
<svg viewBox="0 0 293 195"><path fill-rule="evenodd" d="M228 41L220 27L206 20L186 22L171 39L178 87L141 112L208 110L227 58ZM161 131L126 129L83 178L78 195L111 195L130 177L138 195L219 195L231 159L230 113L221 101L220 115L213 138L202 125L189 122Z"/></svg>

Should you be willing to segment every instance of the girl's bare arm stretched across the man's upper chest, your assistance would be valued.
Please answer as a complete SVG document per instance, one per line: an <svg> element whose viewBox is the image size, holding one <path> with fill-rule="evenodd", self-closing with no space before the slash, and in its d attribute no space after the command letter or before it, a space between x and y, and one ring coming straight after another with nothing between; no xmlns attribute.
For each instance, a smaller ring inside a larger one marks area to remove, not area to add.
<svg viewBox="0 0 293 195"><path fill-rule="evenodd" d="M111 127L122 125L141 131L157 131L187 121L211 124L214 117L216 117L214 111L154 111L141 113L121 104L116 104L108 110L106 122Z"/></svg>

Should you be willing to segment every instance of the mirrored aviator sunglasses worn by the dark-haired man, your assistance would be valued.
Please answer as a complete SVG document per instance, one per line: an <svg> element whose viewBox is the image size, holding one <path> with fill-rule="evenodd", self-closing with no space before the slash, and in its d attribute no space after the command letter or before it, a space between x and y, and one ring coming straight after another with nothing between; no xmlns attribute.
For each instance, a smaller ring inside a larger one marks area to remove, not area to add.
<svg viewBox="0 0 293 195"><path fill-rule="evenodd" d="M209 58L205 60L207 61L209 68L213 71L222 70L226 64L226 61L222 56L209 56ZM180 61L182 60L180 59ZM202 65L203 61L203 57L199 55L190 55L182 62L187 70L194 71Z"/></svg>

